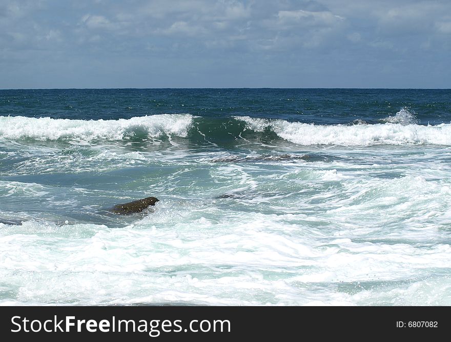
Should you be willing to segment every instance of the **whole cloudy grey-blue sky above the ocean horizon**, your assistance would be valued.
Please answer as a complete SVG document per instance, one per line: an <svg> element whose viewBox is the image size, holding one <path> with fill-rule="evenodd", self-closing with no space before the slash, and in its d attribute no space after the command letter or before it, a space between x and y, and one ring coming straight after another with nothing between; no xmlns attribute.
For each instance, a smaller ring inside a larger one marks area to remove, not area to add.
<svg viewBox="0 0 451 342"><path fill-rule="evenodd" d="M0 0L0 89L450 82L450 0Z"/></svg>

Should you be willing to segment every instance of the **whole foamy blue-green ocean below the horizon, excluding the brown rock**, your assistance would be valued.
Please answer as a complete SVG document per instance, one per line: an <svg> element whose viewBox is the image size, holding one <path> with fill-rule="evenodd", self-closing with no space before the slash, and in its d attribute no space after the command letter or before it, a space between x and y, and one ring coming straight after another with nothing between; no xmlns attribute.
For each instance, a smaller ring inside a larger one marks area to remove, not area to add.
<svg viewBox="0 0 451 342"><path fill-rule="evenodd" d="M449 306L450 166L451 90L0 90L0 304Z"/></svg>

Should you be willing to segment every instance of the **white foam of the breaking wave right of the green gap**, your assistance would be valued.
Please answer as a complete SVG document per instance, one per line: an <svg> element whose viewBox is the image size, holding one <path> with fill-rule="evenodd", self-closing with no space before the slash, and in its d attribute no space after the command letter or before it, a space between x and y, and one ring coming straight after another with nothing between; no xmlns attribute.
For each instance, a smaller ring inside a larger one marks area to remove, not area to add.
<svg viewBox="0 0 451 342"><path fill-rule="evenodd" d="M248 129L262 132L270 128L279 137L298 145L451 145L451 124L421 126L414 124L315 125L286 120L236 116Z"/></svg>

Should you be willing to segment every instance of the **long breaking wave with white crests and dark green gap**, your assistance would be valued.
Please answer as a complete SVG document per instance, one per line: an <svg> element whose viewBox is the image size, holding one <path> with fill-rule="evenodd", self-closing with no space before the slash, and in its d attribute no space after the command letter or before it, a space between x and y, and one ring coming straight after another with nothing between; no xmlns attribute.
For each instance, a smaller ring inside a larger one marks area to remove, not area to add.
<svg viewBox="0 0 451 342"><path fill-rule="evenodd" d="M187 138L191 143L234 144L285 140L296 145L446 145L451 124L416 124L413 113L401 109L385 123L316 125L250 116L199 117L160 114L118 120L53 119L0 116L0 139L19 140L131 140Z"/></svg>

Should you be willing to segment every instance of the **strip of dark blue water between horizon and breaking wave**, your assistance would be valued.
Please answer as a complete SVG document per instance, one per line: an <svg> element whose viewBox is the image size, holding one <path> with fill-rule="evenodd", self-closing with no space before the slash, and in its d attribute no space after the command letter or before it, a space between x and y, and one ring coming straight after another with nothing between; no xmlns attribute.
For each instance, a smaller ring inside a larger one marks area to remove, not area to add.
<svg viewBox="0 0 451 342"><path fill-rule="evenodd" d="M449 89L0 90L0 116L118 119L163 113L278 118L321 125L375 123L400 108L421 125L451 122Z"/></svg>

